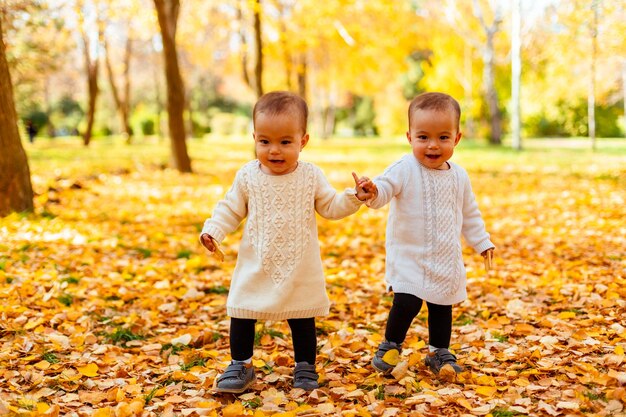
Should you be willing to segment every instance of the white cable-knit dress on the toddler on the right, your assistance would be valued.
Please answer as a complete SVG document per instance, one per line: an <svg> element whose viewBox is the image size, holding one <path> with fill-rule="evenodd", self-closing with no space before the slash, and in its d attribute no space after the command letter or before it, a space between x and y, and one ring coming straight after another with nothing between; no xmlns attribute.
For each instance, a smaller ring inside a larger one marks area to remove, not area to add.
<svg viewBox="0 0 626 417"><path fill-rule="evenodd" d="M467 298L461 235L479 253L493 248L467 172L430 169L405 155L374 178L378 196L367 205L391 202L387 220L387 289L439 305Z"/></svg>

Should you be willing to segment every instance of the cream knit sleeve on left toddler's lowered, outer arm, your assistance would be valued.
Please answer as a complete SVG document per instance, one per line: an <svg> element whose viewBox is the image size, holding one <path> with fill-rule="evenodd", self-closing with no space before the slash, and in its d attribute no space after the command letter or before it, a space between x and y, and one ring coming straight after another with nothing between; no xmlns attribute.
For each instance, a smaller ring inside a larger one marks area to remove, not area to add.
<svg viewBox="0 0 626 417"><path fill-rule="evenodd" d="M242 171L239 171L230 190L215 206L211 218L204 222L202 233L208 233L221 242L247 216L248 196L243 187L243 181Z"/></svg>

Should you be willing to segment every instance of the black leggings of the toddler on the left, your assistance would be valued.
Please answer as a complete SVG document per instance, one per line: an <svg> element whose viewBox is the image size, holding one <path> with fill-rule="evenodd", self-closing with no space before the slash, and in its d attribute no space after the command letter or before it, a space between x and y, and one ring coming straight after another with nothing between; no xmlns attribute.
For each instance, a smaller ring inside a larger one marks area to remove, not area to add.
<svg viewBox="0 0 626 417"><path fill-rule="evenodd" d="M230 354L233 360L245 361L254 351L254 319L230 319ZM315 364L317 353L317 334L315 319L288 319L293 338L295 361Z"/></svg>

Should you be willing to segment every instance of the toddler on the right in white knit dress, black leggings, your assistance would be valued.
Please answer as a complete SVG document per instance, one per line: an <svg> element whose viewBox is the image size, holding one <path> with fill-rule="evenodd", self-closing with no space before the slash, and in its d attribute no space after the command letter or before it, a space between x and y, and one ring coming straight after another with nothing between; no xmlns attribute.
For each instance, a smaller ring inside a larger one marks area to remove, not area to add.
<svg viewBox="0 0 626 417"><path fill-rule="evenodd" d="M384 373L393 370L385 354L402 351L411 322L425 301L430 345L425 363L442 379L453 379L462 368L448 350L452 305L467 298L460 238L463 235L488 260L494 245L467 172L449 161L462 135L458 102L447 94L424 93L413 99L408 116L406 135L413 152L374 178L373 186L366 177L359 183L374 195L367 201L369 207L391 202L385 280L394 298L385 340L372 366Z"/></svg>

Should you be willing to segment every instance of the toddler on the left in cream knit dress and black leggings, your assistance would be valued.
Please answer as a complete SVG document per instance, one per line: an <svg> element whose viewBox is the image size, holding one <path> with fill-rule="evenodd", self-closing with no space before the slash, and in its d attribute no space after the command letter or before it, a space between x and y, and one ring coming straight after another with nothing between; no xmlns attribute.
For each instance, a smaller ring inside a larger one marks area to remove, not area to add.
<svg viewBox="0 0 626 417"><path fill-rule="evenodd" d="M277 91L259 99L253 110L258 159L237 172L202 229L200 241L214 252L247 219L226 303L232 362L217 379L219 392L241 393L254 382L257 320L287 320L296 362L293 386L318 387L314 317L328 314L330 302L315 213L340 219L372 196L360 187L337 193L317 166L298 160L309 140L307 117L306 102L295 94Z"/></svg>

